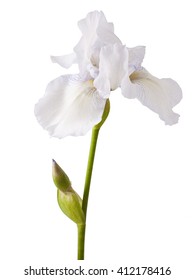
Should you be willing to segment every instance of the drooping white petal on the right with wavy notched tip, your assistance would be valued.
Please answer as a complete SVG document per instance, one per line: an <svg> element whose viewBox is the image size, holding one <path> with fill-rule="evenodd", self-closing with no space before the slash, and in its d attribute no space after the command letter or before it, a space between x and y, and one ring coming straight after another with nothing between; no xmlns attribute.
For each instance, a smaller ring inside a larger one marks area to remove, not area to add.
<svg viewBox="0 0 194 280"><path fill-rule="evenodd" d="M178 122L179 115L172 108L180 102L182 91L172 79L158 79L145 69L123 80L122 93L127 98L137 98L143 105L157 113L165 124Z"/></svg>

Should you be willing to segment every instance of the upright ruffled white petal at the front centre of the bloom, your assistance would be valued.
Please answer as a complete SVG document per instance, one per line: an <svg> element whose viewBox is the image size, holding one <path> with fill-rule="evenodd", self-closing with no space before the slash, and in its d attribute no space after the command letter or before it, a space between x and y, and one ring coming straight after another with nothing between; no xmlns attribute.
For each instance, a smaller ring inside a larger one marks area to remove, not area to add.
<svg viewBox="0 0 194 280"><path fill-rule="evenodd" d="M99 75L94 86L100 95L108 98L110 91L121 85L123 77L128 74L128 50L122 44L108 45L101 49Z"/></svg>

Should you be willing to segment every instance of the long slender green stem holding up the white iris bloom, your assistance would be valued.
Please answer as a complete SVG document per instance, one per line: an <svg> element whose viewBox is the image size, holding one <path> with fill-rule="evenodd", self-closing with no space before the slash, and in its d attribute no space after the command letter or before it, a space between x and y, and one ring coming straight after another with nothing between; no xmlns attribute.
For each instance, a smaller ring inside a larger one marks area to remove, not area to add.
<svg viewBox="0 0 194 280"><path fill-rule="evenodd" d="M96 152L98 134L101 126L103 125L106 118L108 117L109 111L110 111L110 102L109 100L107 100L101 122L95 125L92 129L92 137L90 142L90 151L88 156L88 165L86 170L85 186L84 186L83 202L82 202L82 210L85 214L85 221L86 221L90 183L92 178L92 170L94 165L94 157ZM78 260L84 260L85 232L86 232L86 223L83 225L78 225Z"/></svg>

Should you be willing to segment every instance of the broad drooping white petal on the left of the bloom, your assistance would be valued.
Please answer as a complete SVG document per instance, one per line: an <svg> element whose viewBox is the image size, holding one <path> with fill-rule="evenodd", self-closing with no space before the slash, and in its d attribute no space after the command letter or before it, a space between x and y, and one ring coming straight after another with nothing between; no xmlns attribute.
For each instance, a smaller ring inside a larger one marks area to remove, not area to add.
<svg viewBox="0 0 194 280"><path fill-rule="evenodd" d="M91 80L65 75L49 83L35 106L35 115L51 136L79 136L100 122L105 103Z"/></svg>

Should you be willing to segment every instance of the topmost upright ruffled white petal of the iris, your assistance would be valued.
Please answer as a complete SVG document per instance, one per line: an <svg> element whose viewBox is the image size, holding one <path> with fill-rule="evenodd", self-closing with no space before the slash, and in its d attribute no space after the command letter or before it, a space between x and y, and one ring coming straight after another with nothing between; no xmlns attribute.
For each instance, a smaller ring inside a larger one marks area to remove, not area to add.
<svg viewBox="0 0 194 280"><path fill-rule="evenodd" d="M107 22L103 12L89 13L86 18L78 22L78 26L82 37L74 47L74 52L82 74L90 64L98 67L99 53L103 46L118 43L120 40L114 34L113 24Z"/></svg>

